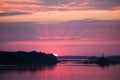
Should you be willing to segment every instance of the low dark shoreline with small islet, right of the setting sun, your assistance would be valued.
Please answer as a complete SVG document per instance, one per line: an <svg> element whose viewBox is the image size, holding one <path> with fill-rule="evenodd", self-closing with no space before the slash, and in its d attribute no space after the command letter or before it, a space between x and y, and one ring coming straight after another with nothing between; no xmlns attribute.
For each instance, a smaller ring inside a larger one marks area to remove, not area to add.
<svg viewBox="0 0 120 80"><path fill-rule="evenodd" d="M60 56L58 57L60 62L71 61L73 63L92 65L97 64L98 66L105 67L109 65L120 64L120 56Z"/></svg>

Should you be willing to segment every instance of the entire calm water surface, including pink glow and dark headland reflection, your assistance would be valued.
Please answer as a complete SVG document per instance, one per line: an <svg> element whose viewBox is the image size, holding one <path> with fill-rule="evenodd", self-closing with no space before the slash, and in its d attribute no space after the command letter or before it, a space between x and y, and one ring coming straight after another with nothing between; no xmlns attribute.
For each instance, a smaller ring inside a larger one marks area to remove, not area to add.
<svg viewBox="0 0 120 80"><path fill-rule="evenodd" d="M102 68L64 62L46 67L1 67L0 80L120 80L120 65Z"/></svg>

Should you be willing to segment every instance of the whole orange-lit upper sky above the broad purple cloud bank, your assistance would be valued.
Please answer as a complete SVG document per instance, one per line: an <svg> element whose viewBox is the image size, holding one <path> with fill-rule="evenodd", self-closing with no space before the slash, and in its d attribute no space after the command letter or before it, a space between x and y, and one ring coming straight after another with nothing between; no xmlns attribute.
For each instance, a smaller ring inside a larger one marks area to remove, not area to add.
<svg viewBox="0 0 120 80"><path fill-rule="evenodd" d="M72 20L120 20L119 0L2 0L1 22L54 23Z"/></svg>

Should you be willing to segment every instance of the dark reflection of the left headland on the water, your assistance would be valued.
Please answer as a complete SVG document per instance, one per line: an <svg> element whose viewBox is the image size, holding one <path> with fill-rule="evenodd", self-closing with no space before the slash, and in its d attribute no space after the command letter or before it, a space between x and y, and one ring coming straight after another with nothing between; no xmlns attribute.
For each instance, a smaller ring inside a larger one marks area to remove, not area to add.
<svg viewBox="0 0 120 80"><path fill-rule="evenodd" d="M0 66L0 72L36 72L44 70L53 70L56 65L39 65L39 66Z"/></svg>

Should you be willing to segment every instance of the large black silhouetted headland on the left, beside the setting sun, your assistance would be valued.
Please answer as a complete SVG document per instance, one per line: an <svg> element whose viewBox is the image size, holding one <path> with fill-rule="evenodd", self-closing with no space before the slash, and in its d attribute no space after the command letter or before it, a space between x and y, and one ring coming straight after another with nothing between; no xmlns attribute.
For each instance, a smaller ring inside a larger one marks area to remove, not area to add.
<svg viewBox="0 0 120 80"><path fill-rule="evenodd" d="M43 52L6 52L0 51L0 65L32 66L32 65L53 65L56 64L57 57L53 54Z"/></svg>

